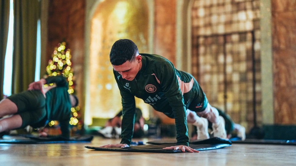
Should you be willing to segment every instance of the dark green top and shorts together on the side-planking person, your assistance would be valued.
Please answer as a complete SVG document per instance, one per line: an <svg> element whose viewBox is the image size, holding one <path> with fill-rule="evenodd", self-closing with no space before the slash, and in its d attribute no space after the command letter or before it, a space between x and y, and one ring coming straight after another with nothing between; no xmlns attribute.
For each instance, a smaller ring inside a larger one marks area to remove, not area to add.
<svg viewBox="0 0 296 166"><path fill-rule="evenodd" d="M71 101L68 93L68 82L65 77L49 76L46 83L56 83L45 96L40 90L26 90L8 96L18 107L18 114L22 118L21 128L31 125L42 127L51 120L60 122L62 135L69 137L69 119L71 118Z"/></svg>

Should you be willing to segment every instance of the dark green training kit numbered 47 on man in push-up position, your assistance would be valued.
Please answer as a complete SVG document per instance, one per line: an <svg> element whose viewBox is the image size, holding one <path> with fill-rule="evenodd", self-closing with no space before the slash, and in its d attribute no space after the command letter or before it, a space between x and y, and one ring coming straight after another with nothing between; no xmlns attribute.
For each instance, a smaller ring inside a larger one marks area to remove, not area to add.
<svg viewBox="0 0 296 166"><path fill-rule="evenodd" d="M142 67L132 81L113 70L122 96L123 119L121 143L130 145L135 120L135 97L155 110L175 119L177 145L189 143L186 109L203 111L207 98L189 73L178 71L173 63L155 54L142 55Z"/></svg>

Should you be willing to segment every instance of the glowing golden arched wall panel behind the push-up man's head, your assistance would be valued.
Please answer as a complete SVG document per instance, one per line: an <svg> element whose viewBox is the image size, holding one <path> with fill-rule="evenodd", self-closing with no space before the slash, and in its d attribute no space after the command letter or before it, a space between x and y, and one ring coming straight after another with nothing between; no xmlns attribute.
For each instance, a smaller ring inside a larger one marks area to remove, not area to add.
<svg viewBox="0 0 296 166"><path fill-rule="evenodd" d="M118 39L134 41L140 53L148 52L148 7L145 0L108 0L99 3L91 20L90 116L111 118L121 106L121 96L109 60ZM149 105L136 99L136 106L149 117Z"/></svg>

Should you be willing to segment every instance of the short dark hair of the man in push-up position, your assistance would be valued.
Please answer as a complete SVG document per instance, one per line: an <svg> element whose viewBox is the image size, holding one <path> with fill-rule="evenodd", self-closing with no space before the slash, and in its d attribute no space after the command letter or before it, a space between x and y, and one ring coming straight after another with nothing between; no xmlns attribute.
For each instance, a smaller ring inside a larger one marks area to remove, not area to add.
<svg viewBox="0 0 296 166"><path fill-rule="evenodd" d="M110 51L110 62L113 65L122 65L126 61L134 60L139 52L137 45L130 39L119 39L116 41Z"/></svg>

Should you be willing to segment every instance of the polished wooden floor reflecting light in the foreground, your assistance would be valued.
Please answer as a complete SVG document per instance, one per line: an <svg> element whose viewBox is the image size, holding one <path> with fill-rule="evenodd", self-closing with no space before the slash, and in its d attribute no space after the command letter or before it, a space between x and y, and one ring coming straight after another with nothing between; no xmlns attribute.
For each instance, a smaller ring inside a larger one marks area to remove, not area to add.
<svg viewBox="0 0 296 166"><path fill-rule="evenodd" d="M135 139L144 143L152 139ZM154 139L153 139L154 140ZM294 145L233 144L199 153L105 152L84 146L119 143L119 139L95 137L91 143L0 144L0 165L296 165Z"/></svg>

